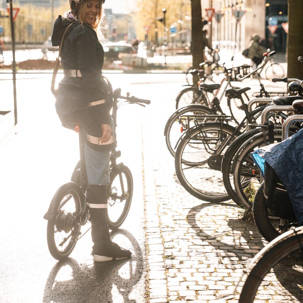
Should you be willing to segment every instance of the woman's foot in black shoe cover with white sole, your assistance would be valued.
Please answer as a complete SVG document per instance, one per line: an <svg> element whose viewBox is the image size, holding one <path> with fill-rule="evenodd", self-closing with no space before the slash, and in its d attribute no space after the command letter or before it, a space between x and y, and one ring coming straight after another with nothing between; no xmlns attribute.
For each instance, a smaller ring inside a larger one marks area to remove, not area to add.
<svg viewBox="0 0 303 303"><path fill-rule="evenodd" d="M132 255L132 252L120 247L114 242L110 242L110 244L106 245L103 249L94 245L92 255L94 256L94 262L105 262L129 258Z"/></svg>

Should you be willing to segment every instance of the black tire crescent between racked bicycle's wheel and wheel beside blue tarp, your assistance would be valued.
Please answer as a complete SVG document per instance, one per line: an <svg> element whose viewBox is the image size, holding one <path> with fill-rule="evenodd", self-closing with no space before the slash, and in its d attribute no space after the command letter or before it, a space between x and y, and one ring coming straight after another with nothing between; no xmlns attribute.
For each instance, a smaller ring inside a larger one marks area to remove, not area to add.
<svg viewBox="0 0 303 303"><path fill-rule="evenodd" d="M238 138L236 138L231 145L229 145L227 151L223 155L222 158L222 165L221 165L221 171L222 171L222 177L223 177L223 183L225 186L225 189L229 195L229 197L239 206L242 206L242 202L240 201L237 192L235 191L234 186L234 178L233 178L233 171L232 171L232 163L234 160L234 156L236 152L239 150L241 145L247 141L247 139L256 133L259 132L259 129L251 129L248 132L245 132L241 134Z"/></svg>

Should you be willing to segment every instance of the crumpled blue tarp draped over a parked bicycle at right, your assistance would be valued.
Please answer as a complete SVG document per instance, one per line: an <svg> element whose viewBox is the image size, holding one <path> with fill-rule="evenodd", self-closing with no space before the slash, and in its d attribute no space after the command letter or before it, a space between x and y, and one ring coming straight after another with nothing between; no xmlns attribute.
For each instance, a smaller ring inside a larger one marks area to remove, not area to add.
<svg viewBox="0 0 303 303"><path fill-rule="evenodd" d="M285 186L299 225L303 225L303 129L288 139L251 153L264 175L266 161Z"/></svg>

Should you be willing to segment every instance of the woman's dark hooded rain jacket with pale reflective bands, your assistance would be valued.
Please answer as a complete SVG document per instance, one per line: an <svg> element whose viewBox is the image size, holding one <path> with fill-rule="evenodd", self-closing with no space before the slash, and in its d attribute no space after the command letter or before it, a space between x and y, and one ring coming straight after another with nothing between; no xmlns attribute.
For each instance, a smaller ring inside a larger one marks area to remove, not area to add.
<svg viewBox="0 0 303 303"><path fill-rule="evenodd" d="M64 127L74 129L81 125L85 133L102 137L101 124L113 128L109 102L108 85L102 77L104 62L103 47L98 41L96 32L86 23L58 16L52 33L52 45L59 46L67 26L73 22L65 33L61 49L61 65L66 70L80 70L82 77L64 77L59 82L59 93L56 97L56 112ZM107 100L107 103L88 106L88 103ZM98 141L98 140L97 140ZM103 145L92 144L86 139L89 147L95 150L109 150L115 143Z"/></svg>

